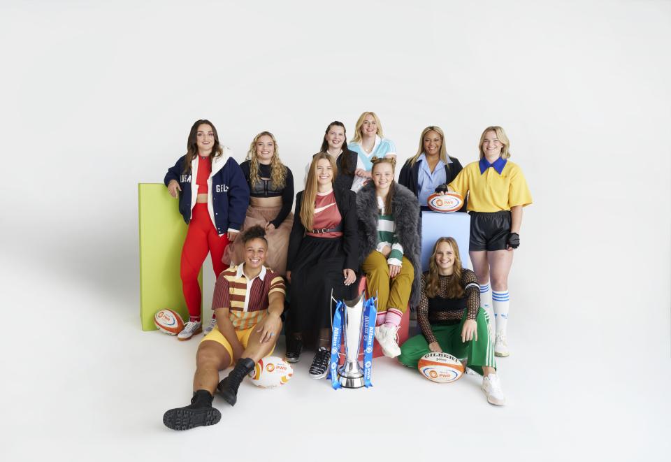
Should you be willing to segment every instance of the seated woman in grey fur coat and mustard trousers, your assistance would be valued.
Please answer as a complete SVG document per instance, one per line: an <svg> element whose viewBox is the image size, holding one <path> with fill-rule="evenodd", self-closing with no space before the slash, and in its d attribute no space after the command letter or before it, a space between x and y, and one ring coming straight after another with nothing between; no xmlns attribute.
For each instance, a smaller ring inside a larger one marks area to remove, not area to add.
<svg viewBox="0 0 671 462"><path fill-rule="evenodd" d="M373 157L373 181L356 194L359 259L368 294L377 294L375 338L385 356L401 354L396 331L401 317L419 303L421 250L419 204L394 181L396 159Z"/></svg>

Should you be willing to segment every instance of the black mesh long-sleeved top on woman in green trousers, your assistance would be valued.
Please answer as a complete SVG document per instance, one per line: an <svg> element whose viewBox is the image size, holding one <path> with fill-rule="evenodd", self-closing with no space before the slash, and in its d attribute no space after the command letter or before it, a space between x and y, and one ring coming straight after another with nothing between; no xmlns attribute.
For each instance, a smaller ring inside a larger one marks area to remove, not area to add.
<svg viewBox="0 0 671 462"><path fill-rule="evenodd" d="M477 278L472 270L461 269L461 287L464 294L461 298L447 298L447 283L452 276L438 276L438 295L433 298L426 296L426 277L421 275L421 295L417 307L417 324L429 343L435 342L431 326L459 324L466 312L466 319L475 319L480 308L480 289Z"/></svg>

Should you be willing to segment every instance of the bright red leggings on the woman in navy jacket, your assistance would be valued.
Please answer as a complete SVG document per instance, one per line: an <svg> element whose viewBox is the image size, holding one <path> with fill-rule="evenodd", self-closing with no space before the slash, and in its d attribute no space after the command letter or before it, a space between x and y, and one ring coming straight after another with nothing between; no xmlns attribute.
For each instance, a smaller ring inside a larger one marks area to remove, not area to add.
<svg viewBox="0 0 671 462"><path fill-rule="evenodd" d="M189 222L187 238L182 247L182 261L180 263L180 277L182 277L182 291L184 299L189 309L189 317L192 321L201 319L201 287L198 284L198 273L201 271L203 261L208 256L208 251L212 255L212 268L215 270L215 277L219 276L223 270L228 268L222 262L222 256L226 246L229 245L229 238L219 236L215 225L210 219L207 203L196 203Z"/></svg>

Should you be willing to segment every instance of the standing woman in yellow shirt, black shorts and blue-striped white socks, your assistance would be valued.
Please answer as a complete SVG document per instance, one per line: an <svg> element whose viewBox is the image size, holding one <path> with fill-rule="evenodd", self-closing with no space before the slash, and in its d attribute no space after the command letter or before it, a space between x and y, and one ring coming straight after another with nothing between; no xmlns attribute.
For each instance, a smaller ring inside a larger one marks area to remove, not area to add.
<svg viewBox="0 0 671 462"><path fill-rule="evenodd" d="M494 354L508 356L505 328L510 296L508 274L512 250L519 246L522 208L531 203L524 174L510 158L510 141L501 127L487 127L480 136L480 160L468 164L448 185L464 198L470 213L470 261L480 286L482 305L491 300L496 319Z"/></svg>

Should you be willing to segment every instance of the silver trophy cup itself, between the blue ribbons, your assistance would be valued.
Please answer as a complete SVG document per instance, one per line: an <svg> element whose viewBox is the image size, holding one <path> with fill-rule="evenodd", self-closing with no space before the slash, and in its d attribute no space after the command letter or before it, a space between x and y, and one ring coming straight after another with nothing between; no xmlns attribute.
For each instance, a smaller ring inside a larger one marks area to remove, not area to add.
<svg viewBox="0 0 671 462"><path fill-rule="evenodd" d="M363 370L359 365L361 326L363 324L363 295L345 301L345 363L338 368L338 382L345 388L363 387Z"/></svg>

